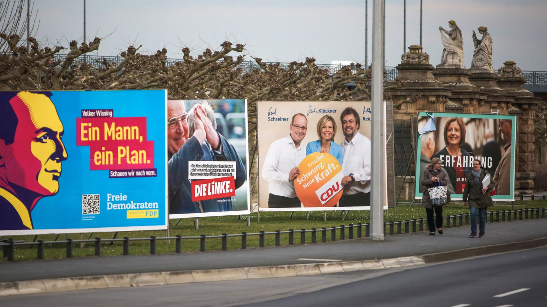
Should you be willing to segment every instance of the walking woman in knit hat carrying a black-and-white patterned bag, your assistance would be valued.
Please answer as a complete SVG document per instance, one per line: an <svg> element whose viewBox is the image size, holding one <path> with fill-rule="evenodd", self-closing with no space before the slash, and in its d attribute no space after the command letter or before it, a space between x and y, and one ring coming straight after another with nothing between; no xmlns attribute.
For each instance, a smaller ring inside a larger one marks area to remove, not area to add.
<svg viewBox="0 0 547 307"><path fill-rule="evenodd" d="M439 158L433 158L431 164L423 170L420 183L426 188L422 196L422 206L426 207L429 235L435 235L435 227L437 227L439 234L443 234L443 228L441 228L443 227L443 206L433 208L428 190L429 188L437 186L438 183L441 186L446 186L448 183L448 175L446 174L446 170L441 168L441 160ZM433 221L433 213L435 213L435 216L437 217L437 220L435 221Z"/></svg>

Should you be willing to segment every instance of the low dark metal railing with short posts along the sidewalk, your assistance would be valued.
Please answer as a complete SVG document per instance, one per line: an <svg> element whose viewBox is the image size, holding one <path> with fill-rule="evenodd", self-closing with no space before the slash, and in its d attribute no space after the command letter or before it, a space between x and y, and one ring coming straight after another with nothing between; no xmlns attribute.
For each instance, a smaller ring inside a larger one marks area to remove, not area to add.
<svg viewBox="0 0 547 307"><path fill-rule="evenodd" d="M505 222L505 221L515 221L515 220L522 220L523 215L524 219L539 219L545 218L545 208L525 208L525 209L516 209L516 210L503 210L503 211L490 211L487 212L487 215L490 215L490 219L488 222L493 223L496 222ZM494 219L495 215L495 219ZM518 215L518 216L517 216ZM469 225L469 217L470 214L458 214L458 215L447 215L444 217L445 219L445 226L444 228L450 228L450 227L457 227L457 226L463 226L463 220L465 218L465 225ZM501 218L501 219L500 219ZM435 218L434 218L435 219ZM397 226L397 234L403 233L402 227L404 225L404 233L410 233L410 227L412 227L412 232L416 231L423 231L424 225L427 224L427 219L412 219L412 220L404 220L404 221L389 221L383 223L383 232L387 235L388 233L386 230L389 227L389 235L395 234L395 226ZM332 226L330 228L323 227L321 229L305 229L302 228L300 230L294 230L289 229L288 231L274 231L274 232L264 232L260 231L257 233L246 233L242 232L241 234L221 234L221 235L205 235L202 234L200 236L194 236L194 237L181 237L180 235L177 235L175 237L155 237L154 235L150 238L128 238L124 237L123 239L101 239L101 238L95 238L95 239L88 239L88 240L72 240L70 238L67 238L64 241L43 241L38 240L38 242L24 242L24 241L14 241L13 239L9 240L3 240L2 243L0 243L0 246L3 247L3 257L7 258L8 261L13 261L15 257L15 246L26 246L30 245L31 247L33 245L37 246L37 258L43 259L44 258L44 246L46 244L66 244L66 256L67 258L72 257L72 247L74 243L95 243L95 256L101 256L101 243L102 242L122 242L123 243L123 255L129 255L129 242L130 241L149 241L150 242L150 255L156 254L156 242L158 240L175 240L175 252L181 253L181 244L182 240L200 240L200 251L205 252L206 251L206 240L207 239L222 239L222 250L228 250L228 238L231 237L241 237L241 249L245 250L247 249L247 237L252 235L258 235L259 236L259 247L264 247L264 238L266 235L275 235L275 246L281 245L281 235L282 234L288 234L288 240L289 245L294 245L294 236L295 234L300 233L300 244L306 243L306 233L311 234L311 243L316 244L317 241L317 233L321 234L321 243L327 242L328 233L330 232L330 240L336 241L336 231L339 230L340 240L346 239L346 230L348 232L348 239L354 238L354 232L357 232L357 238L362 238L363 234L363 227L365 228L365 237L369 237L370 234L370 225L369 223L358 223L357 225L350 224L349 226L340 225L340 227ZM418 230L417 230L418 229Z"/></svg>

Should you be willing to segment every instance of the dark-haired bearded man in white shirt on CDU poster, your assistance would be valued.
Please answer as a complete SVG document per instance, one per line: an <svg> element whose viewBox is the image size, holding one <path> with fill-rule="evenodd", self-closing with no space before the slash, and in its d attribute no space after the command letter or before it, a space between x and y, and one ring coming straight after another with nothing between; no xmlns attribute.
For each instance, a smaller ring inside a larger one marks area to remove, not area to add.
<svg viewBox="0 0 547 307"><path fill-rule="evenodd" d="M346 137L340 145L344 149L340 182L344 192L339 206L370 206L370 139L359 133L357 111L347 107L340 114L342 131Z"/></svg>

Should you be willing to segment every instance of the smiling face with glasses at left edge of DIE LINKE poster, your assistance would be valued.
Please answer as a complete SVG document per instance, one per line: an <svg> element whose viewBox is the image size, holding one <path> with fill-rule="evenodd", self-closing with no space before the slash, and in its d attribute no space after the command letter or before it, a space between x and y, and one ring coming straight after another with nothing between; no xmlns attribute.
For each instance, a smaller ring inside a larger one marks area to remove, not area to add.
<svg viewBox="0 0 547 307"><path fill-rule="evenodd" d="M182 148L182 145L190 137L186 117L183 101L167 101L167 149L173 155Z"/></svg>

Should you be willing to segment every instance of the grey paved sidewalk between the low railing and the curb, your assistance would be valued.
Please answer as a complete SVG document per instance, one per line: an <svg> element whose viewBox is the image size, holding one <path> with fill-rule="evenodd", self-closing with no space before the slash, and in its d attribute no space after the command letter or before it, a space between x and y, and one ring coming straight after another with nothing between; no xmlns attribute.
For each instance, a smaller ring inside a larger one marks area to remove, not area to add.
<svg viewBox="0 0 547 307"><path fill-rule="evenodd" d="M146 273L157 271L225 269L301 264L298 258L362 261L446 252L547 237L547 219L487 223L484 239L468 238L469 226L451 227L443 235L429 232L387 235L385 241L366 238L326 244L306 244L225 252L170 255L101 256L0 263L0 282L36 279Z"/></svg>

